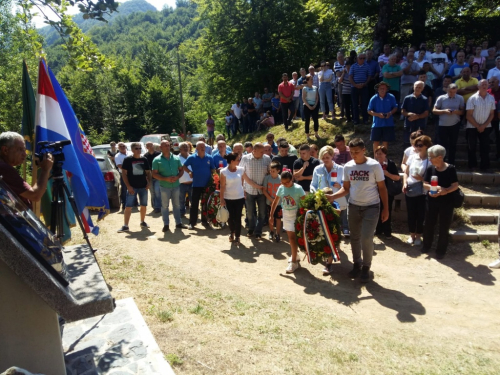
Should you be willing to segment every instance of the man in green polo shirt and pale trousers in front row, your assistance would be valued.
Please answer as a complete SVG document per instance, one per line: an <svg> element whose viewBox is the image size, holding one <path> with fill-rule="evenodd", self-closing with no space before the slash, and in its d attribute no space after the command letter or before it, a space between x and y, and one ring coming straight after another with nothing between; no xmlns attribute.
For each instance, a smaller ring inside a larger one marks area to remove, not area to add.
<svg viewBox="0 0 500 375"><path fill-rule="evenodd" d="M172 200L175 227L184 229L186 226L181 221L181 206L179 204L180 187L179 179L184 174L181 160L171 152L170 141L161 141L161 155L153 159L153 176L160 181L161 215L163 218L163 232L169 231L169 206Z"/></svg>

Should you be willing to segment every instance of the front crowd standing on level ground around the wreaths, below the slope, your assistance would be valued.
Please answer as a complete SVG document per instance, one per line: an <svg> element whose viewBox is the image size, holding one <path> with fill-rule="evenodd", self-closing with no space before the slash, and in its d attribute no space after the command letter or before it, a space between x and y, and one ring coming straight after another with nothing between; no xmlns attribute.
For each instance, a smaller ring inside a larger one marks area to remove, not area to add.
<svg viewBox="0 0 500 375"><path fill-rule="evenodd" d="M153 144L140 155L140 144L132 144L127 156L124 144L114 156L122 170L126 197L124 225L119 232L129 230L131 209L139 199L140 226L145 223L147 189L152 206L161 212L163 232L169 232L170 202L175 229L196 229L200 220L200 197L214 174L220 175L220 205L229 212L229 241L240 243L242 217L246 235L263 240L265 226L269 241L280 242L281 231L287 232L291 247L286 272L293 273L300 265L297 255L295 218L301 197L319 189L331 188L327 198L340 209L341 229L350 237L354 268L353 278L369 281L374 235L392 239L391 212L394 196L404 192L408 212L409 245L430 251L434 228L439 222L436 257L443 258L448 247L448 231L453 217L454 193L458 190L455 167L445 161L446 149L433 145L422 130L410 134L409 146L403 156L403 177L396 164L387 158L387 148L378 145L375 158L366 156L364 142L357 138L346 145L344 137L335 137L335 148L317 150L307 143L291 153L284 138L275 140L266 134L265 142L235 143L230 147L223 134L211 148L202 139L193 149L189 142L180 144L175 155L168 140L163 140L161 153ZM123 150L123 151L122 151ZM151 161L152 160L152 161ZM120 164L121 163L121 164ZM437 184L434 179L437 178ZM154 184L159 184L160 194ZM435 186L434 186L435 185ZM432 192L432 193L430 193ZM158 202L158 203L155 203ZM206 210L201 201L201 210ZM182 223L189 205L189 225ZM161 208L158 208L161 207ZM243 213L243 209L245 209ZM201 215L203 226L209 226ZM331 261L323 273L330 274Z"/></svg>

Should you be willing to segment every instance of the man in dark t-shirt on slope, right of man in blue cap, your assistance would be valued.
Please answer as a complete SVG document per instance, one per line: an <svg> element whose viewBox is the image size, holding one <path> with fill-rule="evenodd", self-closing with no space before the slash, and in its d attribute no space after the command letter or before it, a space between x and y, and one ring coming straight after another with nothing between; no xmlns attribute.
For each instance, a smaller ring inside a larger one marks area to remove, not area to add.
<svg viewBox="0 0 500 375"><path fill-rule="evenodd" d="M410 134L418 129L425 130L427 116L429 116L429 101L422 95L425 82L417 81L413 85L413 94L408 95L403 101L403 116L405 129L403 133L403 146L410 147Z"/></svg>

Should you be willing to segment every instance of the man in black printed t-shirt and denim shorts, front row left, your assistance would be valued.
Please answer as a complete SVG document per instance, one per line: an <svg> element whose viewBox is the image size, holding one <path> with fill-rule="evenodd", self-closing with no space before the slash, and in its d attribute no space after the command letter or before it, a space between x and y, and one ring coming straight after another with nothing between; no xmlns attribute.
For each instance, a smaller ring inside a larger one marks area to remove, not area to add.
<svg viewBox="0 0 500 375"><path fill-rule="evenodd" d="M127 202L123 215L124 225L118 232L128 231L128 222L132 214L134 200L139 196L141 227L149 228L144 221L148 205L148 189L151 186L151 166L148 159L141 156L141 144L134 142L131 145L132 156L127 156L122 164L122 178L127 187Z"/></svg>

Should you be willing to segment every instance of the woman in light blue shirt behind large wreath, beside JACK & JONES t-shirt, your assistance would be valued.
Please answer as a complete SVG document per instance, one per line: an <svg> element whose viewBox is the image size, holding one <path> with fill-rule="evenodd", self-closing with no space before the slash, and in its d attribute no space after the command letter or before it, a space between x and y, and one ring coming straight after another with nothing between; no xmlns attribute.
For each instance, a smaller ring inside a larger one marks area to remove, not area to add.
<svg viewBox="0 0 500 375"><path fill-rule="evenodd" d="M324 146L319 151L319 159L322 164L314 168L313 179L311 181L311 193L324 188L331 188L333 193L340 190L344 179L344 167L335 164L333 161L334 150L332 146ZM349 223L347 221L347 200L345 197L336 199L340 207L340 219L344 233L349 234ZM329 258L323 275L329 275L333 258Z"/></svg>

